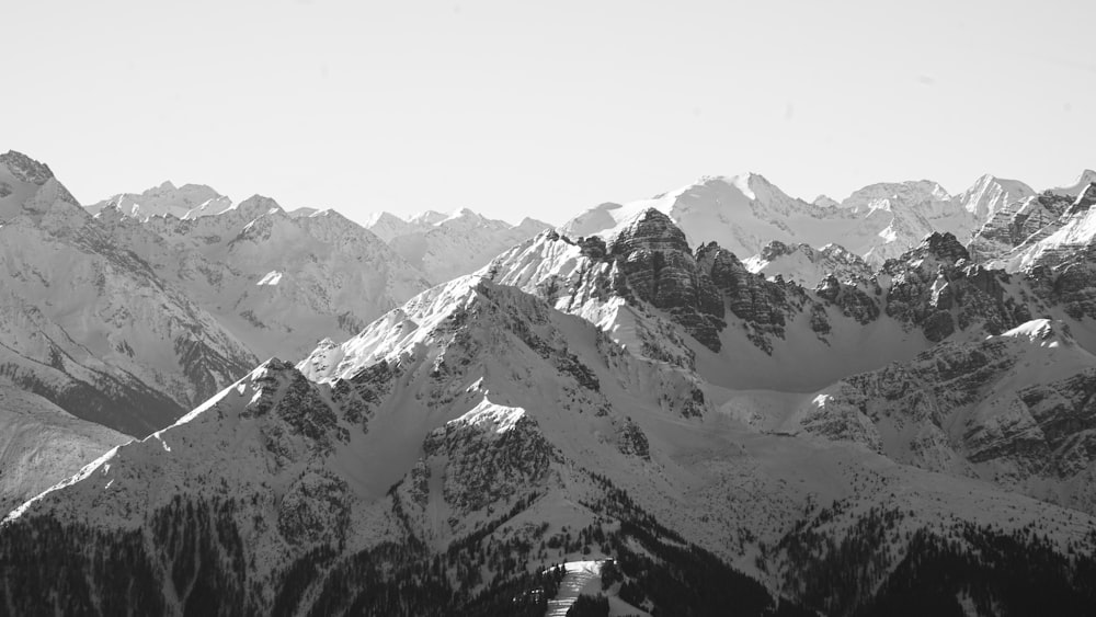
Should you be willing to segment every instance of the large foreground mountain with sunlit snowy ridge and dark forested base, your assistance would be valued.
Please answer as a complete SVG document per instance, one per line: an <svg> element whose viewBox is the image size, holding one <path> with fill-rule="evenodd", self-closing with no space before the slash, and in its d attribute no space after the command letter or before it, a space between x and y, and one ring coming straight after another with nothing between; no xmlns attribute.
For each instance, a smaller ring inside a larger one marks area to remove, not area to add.
<svg viewBox="0 0 1096 617"><path fill-rule="evenodd" d="M1052 565L1092 553L1087 515L757 431L728 395L535 297L461 278L297 367L264 363L24 504L0 528L0 597L18 613L197 614L217 598L222 614L539 615L551 584L529 568L612 558L623 583L609 593L650 613L794 610L779 593L844 614L890 598L826 583L838 542L868 539L850 529L882 540L855 545L860 589L893 584L920 555L911 542L966 525L978 530L954 550L1027 547L1041 529ZM110 574L123 563L124 583ZM986 581L975 593L1007 599ZM1085 593L1077 581L1054 602Z"/></svg>

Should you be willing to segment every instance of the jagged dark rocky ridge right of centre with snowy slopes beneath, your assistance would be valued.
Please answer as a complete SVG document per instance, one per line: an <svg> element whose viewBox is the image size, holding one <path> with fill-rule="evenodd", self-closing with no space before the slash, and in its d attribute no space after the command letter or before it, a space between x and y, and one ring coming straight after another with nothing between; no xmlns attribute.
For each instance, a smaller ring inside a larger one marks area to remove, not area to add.
<svg viewBox="0 0 1096 617"><path fill-rule="evenodd" d="M693 253L653 208L607 243L546 232L482 272L647 357L733 388L814 390L956 333L1001 333L1043 310L1026 282L971 264L951 235L929 236L870 277L829 276L806 288L753 274L713 243Z"/></svg>

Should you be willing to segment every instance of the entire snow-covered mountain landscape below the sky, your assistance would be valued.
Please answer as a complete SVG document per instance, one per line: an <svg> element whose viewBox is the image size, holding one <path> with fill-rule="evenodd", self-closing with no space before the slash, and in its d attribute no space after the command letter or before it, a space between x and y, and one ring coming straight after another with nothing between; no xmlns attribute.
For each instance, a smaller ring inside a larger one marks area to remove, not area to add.
<svg viewBox="0 0 1096 617"><path fill-rule="evenodd" d="M1092 615L1096 172L358 225L0 156L0 615Z"/></svg>

